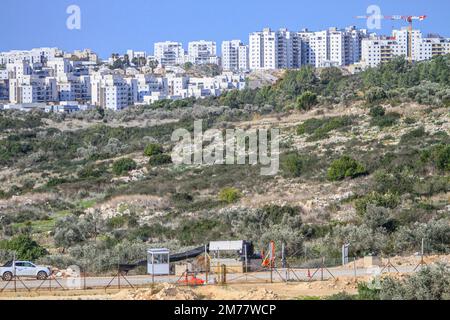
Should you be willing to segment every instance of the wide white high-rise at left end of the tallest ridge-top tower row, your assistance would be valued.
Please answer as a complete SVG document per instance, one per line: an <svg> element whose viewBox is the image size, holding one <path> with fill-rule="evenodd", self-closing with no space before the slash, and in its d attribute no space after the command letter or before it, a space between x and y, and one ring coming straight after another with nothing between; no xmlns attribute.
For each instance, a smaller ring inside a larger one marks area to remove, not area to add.
<svg viewBox="0 0 450 320"><path fill-rule="evenodd" d="M287 29L265 28L249 36L249 65L252 70L292 69L301 66L301 38Z"/></svg>

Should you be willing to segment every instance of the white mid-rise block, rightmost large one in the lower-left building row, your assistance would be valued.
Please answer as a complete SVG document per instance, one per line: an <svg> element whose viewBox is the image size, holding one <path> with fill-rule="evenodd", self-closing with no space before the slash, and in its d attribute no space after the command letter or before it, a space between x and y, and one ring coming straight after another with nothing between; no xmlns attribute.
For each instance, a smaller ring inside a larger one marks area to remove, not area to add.
<svg viewBox="0 0 450 320"><path fill-rule="evenodd" d="M91 79L92 105L122 110L137 100L137 80L120 75L95 74Z"/></svg>

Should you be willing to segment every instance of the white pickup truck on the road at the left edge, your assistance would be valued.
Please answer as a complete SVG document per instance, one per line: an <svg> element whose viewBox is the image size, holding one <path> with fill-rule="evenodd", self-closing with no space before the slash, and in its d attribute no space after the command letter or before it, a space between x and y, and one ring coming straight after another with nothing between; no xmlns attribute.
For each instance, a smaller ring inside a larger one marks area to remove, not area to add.
<svg viewBox="0 0 450 320"><path fill-rule="evenodd" d="M0 267L0 277L3 281L11 281L14 278L14 275L17 277L30 277L38 280L45 280L51 274L50 268L37 266L29 261L10 261L3 267Z"/></svg>

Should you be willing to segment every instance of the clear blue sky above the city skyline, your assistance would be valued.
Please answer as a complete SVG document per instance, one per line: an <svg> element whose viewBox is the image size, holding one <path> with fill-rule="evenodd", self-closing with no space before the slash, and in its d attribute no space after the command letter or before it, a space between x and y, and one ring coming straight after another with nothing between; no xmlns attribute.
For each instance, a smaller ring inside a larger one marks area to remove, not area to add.
<svg viewBox="0 0 450 320"><path fill-rule="evenodd" d="M80 8L80 29L67 28L67 8ZM321 30L355 25L366 28L370 5L383 15L428 15L416 24L424 34L450 37L448 0L0 0L0 51L59 47L91 48L102 58L127 49L153 53L153 43L240 39L262 30ZM382 21L390 34L403 21Z"/></svg>

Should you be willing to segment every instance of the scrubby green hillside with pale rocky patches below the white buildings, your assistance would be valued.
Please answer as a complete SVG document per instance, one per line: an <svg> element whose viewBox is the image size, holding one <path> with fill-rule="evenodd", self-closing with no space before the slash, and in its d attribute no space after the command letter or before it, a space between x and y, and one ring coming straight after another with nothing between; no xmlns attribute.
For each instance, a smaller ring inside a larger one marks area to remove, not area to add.
<svg viewBox="0 0 450 320"><path fill-rule="evenodd" d="M0 112L0 262L92 273L218 239L297 261L450 251L450 57L288 71L220 98L113 113ZM280 128L280 171L174 165L172 132ZM126 159L126 160L123 160ZM300 263L300 262L299 262Z"/></svg>

